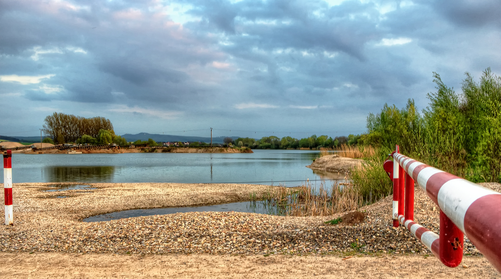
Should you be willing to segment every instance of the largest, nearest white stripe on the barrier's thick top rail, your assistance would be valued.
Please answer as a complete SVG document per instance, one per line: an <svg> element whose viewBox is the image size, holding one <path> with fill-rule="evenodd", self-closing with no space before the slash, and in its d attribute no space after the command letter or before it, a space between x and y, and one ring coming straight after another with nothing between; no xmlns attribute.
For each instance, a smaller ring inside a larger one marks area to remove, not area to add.
<svg viewBox="0 0 501 279"><path fill-rule="evenodd" d="M464 232L464 215L468 207L478 198L490 194L498 193L468 180L455 178L445 182L438 191L438 206Z"/></svg>

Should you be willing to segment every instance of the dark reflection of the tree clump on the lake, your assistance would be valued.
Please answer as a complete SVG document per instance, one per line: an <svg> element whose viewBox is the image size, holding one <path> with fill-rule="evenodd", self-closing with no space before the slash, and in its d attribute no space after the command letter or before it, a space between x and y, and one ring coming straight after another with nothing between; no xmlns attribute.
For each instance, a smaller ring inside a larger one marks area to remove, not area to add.
<svg viewBox="0 0 501 279"><path fill-rule="evenodd" d="M47 182L111 182L114 166L46 167Z"/></svg>

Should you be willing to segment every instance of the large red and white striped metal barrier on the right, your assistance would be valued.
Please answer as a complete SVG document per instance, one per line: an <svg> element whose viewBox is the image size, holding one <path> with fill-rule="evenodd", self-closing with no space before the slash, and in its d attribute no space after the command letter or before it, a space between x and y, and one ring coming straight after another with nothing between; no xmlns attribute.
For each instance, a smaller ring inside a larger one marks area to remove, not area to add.
<svg viewBox="0 0 501 279"><path fill-rule="evenodd" d="M404 156L398 150L392 155L394 165L406 172L405 197L398 192L398 205L405 199L404 212L398 214L400 222L447 266L461 262L464 233L501 271L501 193ZM399 180L400 185L402 175ZM414 180L440 207L440 235L413 221Z"/></svg>

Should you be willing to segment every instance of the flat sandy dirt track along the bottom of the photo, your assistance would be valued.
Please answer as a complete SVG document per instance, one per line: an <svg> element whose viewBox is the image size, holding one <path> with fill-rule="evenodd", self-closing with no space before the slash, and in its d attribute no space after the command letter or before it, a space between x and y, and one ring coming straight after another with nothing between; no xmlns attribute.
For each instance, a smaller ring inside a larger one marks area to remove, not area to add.
<svg viewBox="0 0 501 279"><path fill-rule="evenodd" d="M0 252L1 278L501 278L483 257L123 255Z"/></svg>

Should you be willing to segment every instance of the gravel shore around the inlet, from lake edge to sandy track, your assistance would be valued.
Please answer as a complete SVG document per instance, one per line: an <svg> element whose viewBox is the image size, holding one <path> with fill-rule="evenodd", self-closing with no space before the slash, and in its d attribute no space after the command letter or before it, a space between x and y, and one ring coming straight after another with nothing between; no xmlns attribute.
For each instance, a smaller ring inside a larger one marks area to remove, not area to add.
<svg viewBox="0 0 501 279"><path fill-rule="evenodd" d="M481 183L501 191L501 184ZM98 253L431 255L407 229L392 228L391 200L360 208L359 224L326 225L333 216L292 217L189 212L106 222L81 219L117 210L242 201L271 189L248 184L104 183L95 190L43 192L47 183L14 185L14 226L0 226L0 251ZM415 220L438 232L438 207L415 188ZM55 198L58 195L69 198ZM2 212L3 214L3 212ZM468 241L468 240L467 240ZM464 253L479 255L465 242Z"/></svg>

